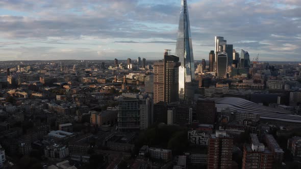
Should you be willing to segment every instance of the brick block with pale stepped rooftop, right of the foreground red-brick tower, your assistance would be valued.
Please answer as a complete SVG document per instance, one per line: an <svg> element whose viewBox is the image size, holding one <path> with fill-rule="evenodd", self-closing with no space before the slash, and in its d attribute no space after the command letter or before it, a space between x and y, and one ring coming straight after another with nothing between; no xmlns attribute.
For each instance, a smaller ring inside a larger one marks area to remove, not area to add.
<svg viewBox="0 0 301 169"><path fill-rule="evenodd" d="M260 143L256 134L250 134L251 144L245 144L243 148L242 168L266 168L273 165L273 154Z"/></svg>

